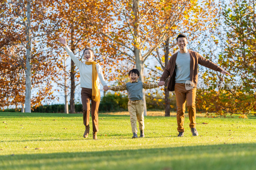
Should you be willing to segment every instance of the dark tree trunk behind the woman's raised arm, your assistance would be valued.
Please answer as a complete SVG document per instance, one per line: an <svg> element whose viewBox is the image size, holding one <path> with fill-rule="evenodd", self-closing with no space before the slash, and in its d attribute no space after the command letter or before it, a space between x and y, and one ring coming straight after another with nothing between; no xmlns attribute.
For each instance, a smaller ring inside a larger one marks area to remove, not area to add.
<svg viewBox="0 0 256 170"><path fill-rule="evenodd" d="M75 48L74 48L74 27L71 26L71 45L70 45L70 50L75 53ZM71 87L70 87L70 113L75 113L75 63L71 59L71 69L70 69L70 81L71 81Z"/></svg>

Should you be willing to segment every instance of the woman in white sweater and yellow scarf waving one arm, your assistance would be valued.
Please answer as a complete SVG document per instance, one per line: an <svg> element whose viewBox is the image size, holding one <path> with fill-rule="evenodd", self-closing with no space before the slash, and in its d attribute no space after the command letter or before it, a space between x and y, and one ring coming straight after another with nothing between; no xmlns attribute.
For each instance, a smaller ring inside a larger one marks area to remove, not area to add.
<svg viewBox="0 0 256 170"><path fill-rule="evenodd" d="M83 118L84 118L84 138L88 137L90 126L89 126L89 117L90 117L90 99L92 103L92 131L93 139L97 139L97 132L99 131L98 126L98 109L100 104L100 82L105 91L108 90L108 86L103 77L102 69L100 65L92 60L93 50L91 48L86 48L83 52L85 63L79 61L74 53L67 46L66 38L60 37L59 42L65 46L65 50L68 52L68 55L74 61L76 66L79 69L80 73L80 86L81 90L81 99L83 105Z"/></svg>

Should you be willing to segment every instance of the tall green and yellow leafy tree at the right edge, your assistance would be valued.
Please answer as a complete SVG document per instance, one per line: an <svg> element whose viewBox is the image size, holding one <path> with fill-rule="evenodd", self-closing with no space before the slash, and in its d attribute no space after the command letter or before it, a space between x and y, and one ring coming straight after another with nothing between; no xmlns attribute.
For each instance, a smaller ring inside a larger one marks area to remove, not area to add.
<svg viewBox="0 0 256 170"><path fill-rule="evenodd" d="M222 75L204 75L204 80L207 78L222 82L224 87L202 91L198 98L200 109L217 115L255 114L255 8L255 0L231 0L229 3L220 1L220 26L215 33L221 48L219 64L230 71L231 77L224 81ZM204 102L212 104L205 107Z"/></svg>

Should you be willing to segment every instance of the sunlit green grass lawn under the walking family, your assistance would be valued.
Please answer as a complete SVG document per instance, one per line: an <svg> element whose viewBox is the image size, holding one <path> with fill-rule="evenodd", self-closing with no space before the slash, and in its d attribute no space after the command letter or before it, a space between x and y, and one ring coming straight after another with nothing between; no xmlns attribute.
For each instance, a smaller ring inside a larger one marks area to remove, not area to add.
<svg viewBox="0 0 256 170"><path fill-rule="evenodd" d="M197 137L185 117L178 138L176 117L148 116L145 138L132 139L129 116L100 114L98 140L91 119L83 138L82 114L1 112L0 121L1 170L256 169L256 117L197 117Z"/></svg>

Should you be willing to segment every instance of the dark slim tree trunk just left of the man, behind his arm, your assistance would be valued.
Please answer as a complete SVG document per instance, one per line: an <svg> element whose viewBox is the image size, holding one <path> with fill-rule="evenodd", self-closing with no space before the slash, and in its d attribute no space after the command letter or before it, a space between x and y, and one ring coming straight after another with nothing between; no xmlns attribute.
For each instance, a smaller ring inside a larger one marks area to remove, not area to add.
<svg viewBox="0 0 256 170"><path fill-rule="evenodd" d="M164 68L166 68L168 61L169 61L169 38L165 40L164 44ZM167 83L168 83L169 77L165 80L164 83L164 102L165 102L165 115L164 116L170 116L170 92L167 91Z"/></svg>

